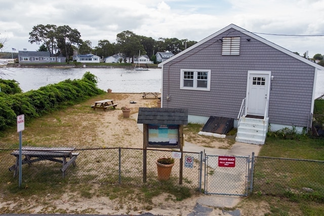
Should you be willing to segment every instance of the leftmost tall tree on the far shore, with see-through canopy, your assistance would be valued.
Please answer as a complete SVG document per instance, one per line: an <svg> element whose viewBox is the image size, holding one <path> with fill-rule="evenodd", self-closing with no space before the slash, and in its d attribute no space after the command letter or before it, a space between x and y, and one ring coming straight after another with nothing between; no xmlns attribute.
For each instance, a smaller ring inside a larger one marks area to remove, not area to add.
<svg viewBox="0 0 324 216"><path fill-rule="evenodd" d="M55 54L57 51L57 40L56 40L56 25L36 25L29 32L28 42L30 44L36 43L40 45L41 42L47 47L47 50L51 54Z"/></svg>

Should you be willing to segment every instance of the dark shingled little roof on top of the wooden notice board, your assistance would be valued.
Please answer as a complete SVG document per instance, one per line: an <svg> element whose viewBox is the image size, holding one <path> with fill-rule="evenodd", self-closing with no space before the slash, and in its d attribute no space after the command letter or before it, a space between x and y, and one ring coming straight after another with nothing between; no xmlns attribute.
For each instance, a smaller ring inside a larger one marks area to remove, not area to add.
<svg viewBox="0 0 324 216"><path fill-rule="evenodd" d="M140 107L137 123L188 124L188 109Z"/></svg>

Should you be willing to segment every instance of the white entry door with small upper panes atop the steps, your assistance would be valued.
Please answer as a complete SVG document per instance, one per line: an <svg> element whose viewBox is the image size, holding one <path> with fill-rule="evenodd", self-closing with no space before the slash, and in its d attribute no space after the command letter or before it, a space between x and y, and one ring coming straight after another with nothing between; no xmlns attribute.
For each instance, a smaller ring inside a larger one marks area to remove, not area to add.
<svg viewBox="0 0 324 216"><path fill-rule="evenodd" d="M271 71L249 71L247 92L247 114L264 116L269 98Z"/></svg>

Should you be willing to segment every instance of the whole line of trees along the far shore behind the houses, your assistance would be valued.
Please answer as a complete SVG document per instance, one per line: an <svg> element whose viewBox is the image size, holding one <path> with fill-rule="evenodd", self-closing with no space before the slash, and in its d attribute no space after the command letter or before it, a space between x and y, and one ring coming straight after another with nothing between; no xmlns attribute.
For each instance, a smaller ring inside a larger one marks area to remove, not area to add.
<svg viewBox="0 0 324 216"><path fill-rule="evenodd" d="M28 42L41 45L38 51L49 51L57 56L63 55L67 59L73 56L73 51L78 54L94 54L100 57L108 57L117 53L122 53L126 58L132 59L141 51L142 55L147 55L154 61L157 52L172 52L178 54L188 47L196 44L196 41L178 38L163 38L158 40L152 37L137 35L132 31L123 31L116 35L116 41L111 43L107 39L98 41L96 47L92 47L90 40L82 40L77 29L72 29L68 25L36 25L29 32Z"/></svg>

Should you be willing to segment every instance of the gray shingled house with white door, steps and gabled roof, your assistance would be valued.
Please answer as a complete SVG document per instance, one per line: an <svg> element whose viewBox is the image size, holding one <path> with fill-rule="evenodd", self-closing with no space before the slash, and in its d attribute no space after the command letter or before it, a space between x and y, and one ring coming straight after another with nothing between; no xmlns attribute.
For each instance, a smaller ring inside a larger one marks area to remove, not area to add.
<svg viewBox="0 0 324 216"><path fill-rule="evenodd" d="M311 125L316 74L324 67L229 25L162 67L161 107L188 108L188 122L233 119L236 141L264 144L271 131Z"/></svg>

